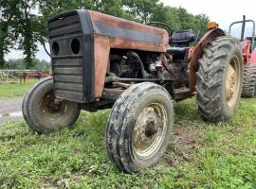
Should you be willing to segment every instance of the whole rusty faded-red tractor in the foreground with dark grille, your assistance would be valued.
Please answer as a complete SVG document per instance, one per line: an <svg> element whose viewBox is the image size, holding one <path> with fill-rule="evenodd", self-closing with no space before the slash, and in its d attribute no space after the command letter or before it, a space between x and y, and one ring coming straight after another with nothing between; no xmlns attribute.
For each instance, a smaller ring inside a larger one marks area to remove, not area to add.
<svg viewBox="0 0 256 189"><path fill-rule="evenodd" d="M82 9L53 17L48 31L53 77L25 96L27 125L49 132L72 125L81 110L111 108L106 151L124 172L163 155L173 132L174 100L196 95L210 122L228 120L239 104L242 49L220 28L202 37L190 59L192 29L168 33Z"/></svg>

